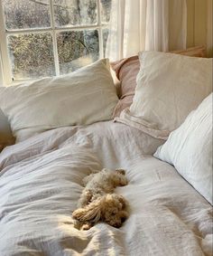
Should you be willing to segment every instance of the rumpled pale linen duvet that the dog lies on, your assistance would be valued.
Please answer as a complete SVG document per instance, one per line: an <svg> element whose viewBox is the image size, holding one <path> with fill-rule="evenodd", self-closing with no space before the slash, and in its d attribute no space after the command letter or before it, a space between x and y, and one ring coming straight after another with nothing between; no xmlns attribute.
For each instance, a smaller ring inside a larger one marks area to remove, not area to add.
<svg viewBox="0 0 213 256"><path fill-rule="evenodd" d="M0 255L211 255L212 207L153 156L162 140L123 124L58 128L0 154ZM73 227L81 180L125 168L130 204L120 229Z"/></svg>

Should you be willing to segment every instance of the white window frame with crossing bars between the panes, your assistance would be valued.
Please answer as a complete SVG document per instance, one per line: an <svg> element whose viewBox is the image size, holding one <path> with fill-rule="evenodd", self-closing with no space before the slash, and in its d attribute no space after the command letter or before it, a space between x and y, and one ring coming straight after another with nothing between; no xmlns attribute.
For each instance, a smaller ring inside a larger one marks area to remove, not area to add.
<svg viewBox="0 0 213 256"><path fill-rule="evenodd" d="M54 6L52 0L49 0L50 3L50 17L51 17L51 26L48 28L32 28L32 29L14 29L14 30L6 30L5 28L5 14L3 9L2 0L0 0L0 85L1 81L5 86L11 85L14 82L13 73L12 73L12 65L10 63L10 57L7 47L7 35L17 34L17 33L44 33L50 32L52 35L52 44L53 44L53 54L54 54L54 65L56 75L60 75L60 64L58 57L58 49L57 49L57 39L56 33L59 32L69 32L69 31L80 31L85 29L94 29L98 31L98 43L99 43L99 58L104 57L104 49L103 49L103 29L107 28L107 24L102 24L101 22L101 4L100 0L97 0L97 24L93 25L69 25L66 27L61 26L58 27L54 21ZM1 75L2 73L2 75ZM20 82L22 80L18 80ZM23 80L26 81L26 80Z"/></svg>

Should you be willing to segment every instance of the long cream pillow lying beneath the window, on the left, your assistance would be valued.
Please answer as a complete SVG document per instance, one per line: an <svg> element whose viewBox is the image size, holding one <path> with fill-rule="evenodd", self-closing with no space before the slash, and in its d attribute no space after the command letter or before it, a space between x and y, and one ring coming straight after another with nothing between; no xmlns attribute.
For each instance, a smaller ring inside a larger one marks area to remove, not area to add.
<svg viewBox="0 0 213 256"><path fill-rule="evenodd" d="M51 128L112 119L117 101L107 59L60 77L0 88L0 108L16 141Z"/></svg>

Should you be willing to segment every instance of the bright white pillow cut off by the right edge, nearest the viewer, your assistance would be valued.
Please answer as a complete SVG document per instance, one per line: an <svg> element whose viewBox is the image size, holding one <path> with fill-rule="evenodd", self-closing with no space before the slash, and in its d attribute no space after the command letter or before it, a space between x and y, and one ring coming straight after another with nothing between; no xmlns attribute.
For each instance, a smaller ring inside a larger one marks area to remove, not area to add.
<svg viewBox="0 0 213 256"><path fill-rule="evenodd" d="M212 204L212 93L171 132L153 156L177 171Z"/></svg>

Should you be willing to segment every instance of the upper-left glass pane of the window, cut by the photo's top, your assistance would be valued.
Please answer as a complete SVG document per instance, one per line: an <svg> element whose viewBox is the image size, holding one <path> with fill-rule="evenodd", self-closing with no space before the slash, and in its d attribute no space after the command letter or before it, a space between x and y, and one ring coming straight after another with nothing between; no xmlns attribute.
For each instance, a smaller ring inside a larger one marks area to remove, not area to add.
<svg viewBox="0 0 213 256"><path fill-rule="evenodd" d="M51 25L49 0L2 0L2 2L8 30Z"/></svg>

